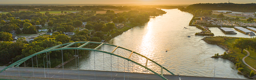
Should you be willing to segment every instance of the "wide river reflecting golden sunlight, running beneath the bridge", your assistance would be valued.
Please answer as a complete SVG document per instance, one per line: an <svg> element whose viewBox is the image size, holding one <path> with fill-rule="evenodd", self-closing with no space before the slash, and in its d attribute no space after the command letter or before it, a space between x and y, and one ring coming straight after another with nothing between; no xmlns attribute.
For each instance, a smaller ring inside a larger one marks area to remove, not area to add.
<svg viewBox="0 0 256 80"><path fill-rule="evenodd" d="M216 53L223 54L225 50L201 40L205 36L195 36L195 33L201 30L189 26L193 17L192 14L181 12L178 9L162 10L167 13L151 18L144 26L134 27L113 38L108 43L138 52L166 67L175 75L213 77L215 71L215 77L246 79L246 77L238 74L235 65L229 60L210 58ZM219 32L220 30L216 29L214 31ZM100 48L100 50L108 52L113 49L114 47L110 46ZM166 50L169 51L166 52ZM129 57L131 52L118 49L115 54ZM146 59L139 56L132 56L131 59L143 65L146 63ZM111 59L108 54L93 51L87 56L79 58L78 68L111 71L111 64L112 71L124 71L125 68L125 72L151 73L132 62L128 63L127 60L114 56ZM77 69L76 60L72 60L64 67ZM149 62L147 67L157 71L157 73L161 69L153 65L152 62ZM169 73L164 72L164 74Z"/></svg>

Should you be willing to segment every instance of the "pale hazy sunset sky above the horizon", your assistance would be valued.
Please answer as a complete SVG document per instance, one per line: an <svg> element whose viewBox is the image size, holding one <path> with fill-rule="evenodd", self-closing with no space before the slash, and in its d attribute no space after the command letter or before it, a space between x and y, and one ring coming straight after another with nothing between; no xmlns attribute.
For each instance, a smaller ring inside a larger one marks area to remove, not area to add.
<svg viewBox="0 0 256 80"><path fill-rule="evenodd" d="M0 4L196 4L228 3L228 0L0 0ZM256 3L256 0L230 0L230 3Z"/></svg>

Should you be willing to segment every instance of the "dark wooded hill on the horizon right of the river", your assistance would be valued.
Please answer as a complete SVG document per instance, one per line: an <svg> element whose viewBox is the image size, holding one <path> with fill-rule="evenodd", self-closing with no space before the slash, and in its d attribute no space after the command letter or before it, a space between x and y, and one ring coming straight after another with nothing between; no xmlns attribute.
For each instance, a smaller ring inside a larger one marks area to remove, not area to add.
<svg viewBox="0 0 256 80"><path fill-rule="evenodd" d="M181 8L180 8L181 9ZM233 12L256 12L256 4L234 4L234 3L199 3L192 4L186 7L187 12L191 12L189 10L229 10Z"/></svg>

